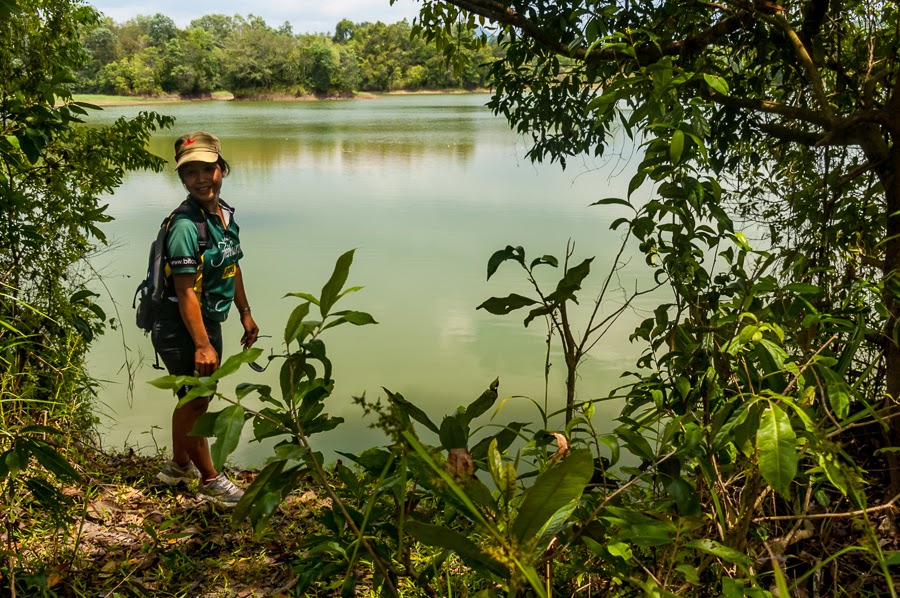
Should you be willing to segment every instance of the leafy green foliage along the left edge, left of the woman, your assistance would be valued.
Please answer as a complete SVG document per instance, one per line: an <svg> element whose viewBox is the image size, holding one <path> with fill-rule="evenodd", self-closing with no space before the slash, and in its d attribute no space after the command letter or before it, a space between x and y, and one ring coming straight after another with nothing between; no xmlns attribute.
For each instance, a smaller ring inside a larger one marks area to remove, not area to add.
<svg viewBox="0 0 900 598"><path fill-rule="evenodd" d="M79 2L0 3L0 576L15 592L29 570L18 548L23 509L62 524L63 458L92 424L87 347L112 320L85 288L82 260L105 243L102 195L124 173L165 163L144 145L172 120L153 113L86 129L91 106L69 85L96 23ZM63 432L65 431L65 432Z"/></svg>

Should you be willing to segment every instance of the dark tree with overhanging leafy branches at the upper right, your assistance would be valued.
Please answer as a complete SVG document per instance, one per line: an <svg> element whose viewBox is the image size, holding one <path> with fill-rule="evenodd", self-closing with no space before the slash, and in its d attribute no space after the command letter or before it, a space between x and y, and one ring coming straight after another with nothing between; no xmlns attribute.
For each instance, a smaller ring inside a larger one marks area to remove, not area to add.
<svg viewBox="0 0 900 598"><path fill-rule="evenodd" d="M484 19L506 50L490 106L531 136L532 159L601 154L622 123L648 136L632 191L655 181L675 209L671 185L707 173L724 195L687 209L709 218L730 205L764 224L782 284L821 292L811 308L840 306L854 285L871 290L856 353L866 367L847 373L870 401L887 397L888 444L900 446L896 3L423 0L417 25L459 63L461 43L484 43ZM471 38L451 37L459 22ZM827 327L807 329L811 346ZM888 455L895 494L900 460Z"/></svg>

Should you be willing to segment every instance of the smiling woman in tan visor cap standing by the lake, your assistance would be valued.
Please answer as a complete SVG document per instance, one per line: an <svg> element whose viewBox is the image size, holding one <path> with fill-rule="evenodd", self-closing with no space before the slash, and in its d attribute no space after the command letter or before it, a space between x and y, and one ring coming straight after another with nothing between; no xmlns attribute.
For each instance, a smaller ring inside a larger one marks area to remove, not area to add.
<svg viewBox="0 0 900 598"><path fill-rule="evenodd" d="M169 301L153 325L151 339L170 374L209 376L219 367L222 322L232 303L244 328L242 345L251 347L259 328L253 321L238 265L243 257L240 229L234 221L234 210L219 197L222 179L229 172L219 140L202 131L183 135L175 142L175 168L188 191L186 202L195 217L177 214L169 224ZM207 229L207 249L202 255L198 219L205 220ZM184 387L178 396L186 392ZM209 399L201 397L175 409L172 460L157 477L170 485L199 479L201 496L222 506L234 506L244 491L216 471L206 438L189 435L208 405Z"/></svg>

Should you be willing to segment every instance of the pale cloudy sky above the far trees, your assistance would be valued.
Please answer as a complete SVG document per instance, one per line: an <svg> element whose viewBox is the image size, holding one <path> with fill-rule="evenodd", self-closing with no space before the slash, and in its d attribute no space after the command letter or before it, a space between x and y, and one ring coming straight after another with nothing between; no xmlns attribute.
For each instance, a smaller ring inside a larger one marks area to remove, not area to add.
<svg viewBox="0 0 900 598"><path fill-rule="evenodd" d="M404 18L412 22L418 14L415 0L86 0L100 12L124 23L137 15L162 13L180 28L207 14L248 15L262 17L270 27L288 21L294 33L331 33L341 19L355 23L382 21L395 23Z"/></svg>

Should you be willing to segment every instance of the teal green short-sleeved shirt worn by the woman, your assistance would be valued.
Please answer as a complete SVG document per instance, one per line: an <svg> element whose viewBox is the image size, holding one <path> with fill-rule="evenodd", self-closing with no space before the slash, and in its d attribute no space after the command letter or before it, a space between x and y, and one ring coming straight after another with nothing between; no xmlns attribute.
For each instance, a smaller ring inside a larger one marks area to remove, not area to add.
<svg viewBox="0 0 900 598"><path fill-rule="evenodd" d="M234 221L234 209L219 201L228 226L218 214L206 215L208 248L200 255L197 225L186 214L178 214L169 225L166 256L171 274L194 274L194 291L200 299L204 317L223 322L234 302L234 279L241 252L240 228ZM202 208L201 208L202 209ZM203 268L199 268L200 264Z"/></svg>

